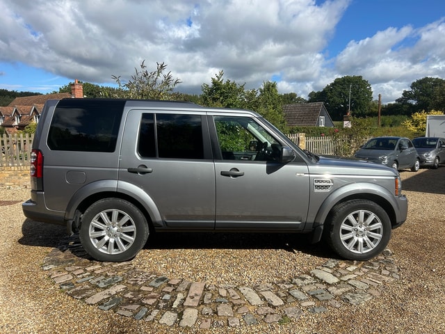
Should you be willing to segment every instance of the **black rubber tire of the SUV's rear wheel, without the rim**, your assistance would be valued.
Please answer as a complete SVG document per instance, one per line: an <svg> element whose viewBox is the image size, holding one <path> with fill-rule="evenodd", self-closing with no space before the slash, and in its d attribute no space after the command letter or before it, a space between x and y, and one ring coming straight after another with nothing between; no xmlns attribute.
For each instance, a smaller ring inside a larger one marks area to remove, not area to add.
<svg viewBox="0 0 445 334"><path fill-rule="evenodd" d="M136 238L134 239L133 244L127 250L124 250L124 252L114 255L106 254L98 250L92 243L89 235L92 219L99 214L99 212L103 212L107 209L118 209L125 214L128 214L131 219L133 219L133 223L136 226ZM86 252L95 260L105 262L122 262L133 259L139 250L145 246L148 235L149 227L147 219L143 213L140 212L140 209L130 202L120 198L105 198L93 203L83 214L81 228L79 230L79 238Z"/></svg>

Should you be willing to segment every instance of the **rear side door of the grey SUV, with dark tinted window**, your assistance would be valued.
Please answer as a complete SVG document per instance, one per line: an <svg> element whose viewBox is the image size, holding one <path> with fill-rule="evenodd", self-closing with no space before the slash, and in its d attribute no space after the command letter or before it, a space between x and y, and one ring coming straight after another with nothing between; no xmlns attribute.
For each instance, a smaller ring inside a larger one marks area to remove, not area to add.
<svg viewBox="0 0 445 334"><path fill-rule="evenodd" d="M215 169L204 115L131 110L127 116L120 184L147 193L170 229L214 228Z"/></svg>

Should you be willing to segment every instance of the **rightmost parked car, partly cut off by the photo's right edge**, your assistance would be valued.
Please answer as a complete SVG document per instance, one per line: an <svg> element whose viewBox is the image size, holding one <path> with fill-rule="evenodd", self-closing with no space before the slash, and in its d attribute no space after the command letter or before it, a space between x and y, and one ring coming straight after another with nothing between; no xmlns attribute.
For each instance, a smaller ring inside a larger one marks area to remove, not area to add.
<svg viewBox="0 0 445 334"><path fill-rule="evenodd" d="M420 156L421 167L438 168L445 164L445 138L418 137L412 140Z"/></svg>

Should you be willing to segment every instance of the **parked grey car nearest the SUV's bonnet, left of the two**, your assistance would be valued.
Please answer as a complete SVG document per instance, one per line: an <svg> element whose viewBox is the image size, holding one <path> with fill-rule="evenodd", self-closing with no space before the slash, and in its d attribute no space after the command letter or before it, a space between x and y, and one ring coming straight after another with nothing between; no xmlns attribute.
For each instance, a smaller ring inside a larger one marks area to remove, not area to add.
<svg viewBox="0 0 445 334"><path fill-rule="evenodd" d="M354 155L358 159L372 161L394 169L420 168L420 158L408 138L376 137L370 139Z"/></svg>

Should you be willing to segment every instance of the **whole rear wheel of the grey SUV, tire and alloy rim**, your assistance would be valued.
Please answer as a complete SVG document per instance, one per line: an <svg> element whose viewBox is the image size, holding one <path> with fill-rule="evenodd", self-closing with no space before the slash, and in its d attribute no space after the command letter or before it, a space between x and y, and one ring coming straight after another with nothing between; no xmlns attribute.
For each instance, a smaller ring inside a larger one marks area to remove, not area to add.
<svg viewBox="0 0 445 334"><path fill-rule="evenodd" d="M131 260L149 235L147 219L135 205L120 198L93 203L83 214L79 237L86 252L98 261Z"/></svg>

